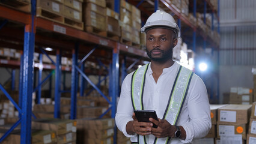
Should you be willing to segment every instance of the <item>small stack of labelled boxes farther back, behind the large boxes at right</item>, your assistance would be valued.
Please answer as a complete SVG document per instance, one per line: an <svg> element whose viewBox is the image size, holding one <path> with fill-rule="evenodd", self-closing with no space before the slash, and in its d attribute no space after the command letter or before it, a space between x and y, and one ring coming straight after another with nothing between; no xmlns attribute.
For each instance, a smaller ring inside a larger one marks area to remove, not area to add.
<svg viewBox="0 0 256 144"><path fill-rule="evenodd" d="M242 87L230 88L230 104L252 104L252 102L252 89Z"/></svg>

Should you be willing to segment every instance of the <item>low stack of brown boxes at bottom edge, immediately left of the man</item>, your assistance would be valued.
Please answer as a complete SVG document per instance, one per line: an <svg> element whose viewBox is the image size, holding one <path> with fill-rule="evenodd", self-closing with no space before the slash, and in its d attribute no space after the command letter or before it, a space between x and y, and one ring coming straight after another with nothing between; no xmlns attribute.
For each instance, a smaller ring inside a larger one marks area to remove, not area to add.
<svg viewBox="0 0 256 144"><path fill-rule="evenodd" d="M78 143L113 143L114 119L77 119Z"/></svg>

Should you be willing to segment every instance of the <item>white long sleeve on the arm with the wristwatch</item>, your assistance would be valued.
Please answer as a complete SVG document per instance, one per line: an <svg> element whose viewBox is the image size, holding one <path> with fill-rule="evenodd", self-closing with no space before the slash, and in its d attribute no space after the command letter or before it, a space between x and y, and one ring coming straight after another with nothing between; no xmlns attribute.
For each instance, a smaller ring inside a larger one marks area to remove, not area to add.
<svg viewBox="0 0 256 144"><path fill-rule="evenodd" d="M181 124L186 131L186 140L181 140L183 143L190 143L194 138L206 136L212 127L206 86L200 77L194 75L194 78L187 95L189 122Z"/></svg>

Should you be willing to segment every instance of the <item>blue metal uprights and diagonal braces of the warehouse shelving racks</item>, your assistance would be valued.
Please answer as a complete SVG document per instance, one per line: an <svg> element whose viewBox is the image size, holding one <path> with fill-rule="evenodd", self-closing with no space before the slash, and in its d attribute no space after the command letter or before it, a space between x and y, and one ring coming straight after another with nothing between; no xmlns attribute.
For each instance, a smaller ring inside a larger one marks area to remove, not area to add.
<svg viewBox="0 0 256 144"><path fill-rule="evenodd" d="M120 1L115 0L115 11L117 13L120 13ZM139 2L141 4L143 1ZM155 0L155 11L158 8L158 1ZM139 6L137 5L137 7ZM196 4L197 1L194 0L194 16L196 12ZM7 131L7 133L4 134L4 136L1 137L0 143L2 140L4 140L5 137L8 136L8 134L11 133L12 130L14 130L17 125L21 124L21 139L20 143L22 144L29 144L31 143L31 117L32 115L32 92L39 91L38 92L38 102L40 103L40 89L42 83L46 82L47 79L51 79L51 76L53 72L51 72L44 80L41 80L41 74L42 69L39 68L38 73L38 86L37 88L33 89L33 74L34 74L34 66L33 66L33 53L34 53L34 45L35 45L35 6L36 6L36 0L31 0L31 20L30 23L25 23L25 30L24 30L24 46L23 46L23 53L20 58L20 74L19 74L19 104L16 104L14 100L10 97L7 91L5 91L4 87L0 84L1 91L4 92L4 94L10 99L10 101L14 104L16 109L19 111L19 120L10 128L10 130ZM204 17L206 13L206 1L204 1ZM218 7L219 7L219 0L218 0ZM218 8L219 9L219 8ZM7 23L7 20L4 20L4 23L0 26L4 26L5 23ZM204 18L205 22L205 18ZM181 21L178 20L178 25L181 27ZM218 12L218 32L219 32L219 12ZM206 41L204 41L204 47L206 46ZM96 46L97 47L97 46ZM96 49L94 49L86 55L81 62L78 63L78 50L79 50L79 43L75 44L75 48L73 49L73 65L72 65L72 103L71 103L71 113L70 117L71 119L76 118L76 92L78 89L78 73L81 74L81 91L80 94L84 95L84 80L87 80L88 83L90 83L96 91L98 91L105 99L108 101L109 104L111 104L111 107L109 107L108 110L106 110L103 115L105 115L109 110L111 110L111 118L115 117L115 112L117 108L117 96L118 96L118 88L119 88L119 52L120 52L120 44L116 43L116 45L113 48L112 51L112 63L109 65L109 95L111 96L112 101L108 100L108 98L100 91L100 89L94 85L94 83L91 82L90 79L88 79L87 75L84 73L84 61L85 59L90 56L90 54ZM193 32L193 50L196 49L196 30L194 29ZM43 52L44 53L44 52ZM46 54L46 53L44 53ZM47 54L46 54L47 55ZM219 53L218 53L219 56ZM48 56L49 57L49 56ZM40 55L40 65L42 64L42 55ZM56 62L52 63L55 65L55 118L59 118L59 109L60 109L60 83L61 83L61 50L57 50L56 53ZM139 61L139 59L138 59ZM136 62L135 61L132 65L130 65L129 68L132 68ZM124 58L124 61L122 62L122 80L126 76L126 68L125 68L126 60ZM80 68L79 68L80 67ZM129 70L129 68L127 68ZM14 71L12 76L14 75ZM100 80L99 80L100 82ZM12 85L13 86L13 85ZM219 90L218 90L219 91ZM102 116L103 116L102 115ZM102 117L100 116L100 117ZM116 143L116 136L117 136L117 128L115 127L115 135L114 135L114 143Z"/></svg>

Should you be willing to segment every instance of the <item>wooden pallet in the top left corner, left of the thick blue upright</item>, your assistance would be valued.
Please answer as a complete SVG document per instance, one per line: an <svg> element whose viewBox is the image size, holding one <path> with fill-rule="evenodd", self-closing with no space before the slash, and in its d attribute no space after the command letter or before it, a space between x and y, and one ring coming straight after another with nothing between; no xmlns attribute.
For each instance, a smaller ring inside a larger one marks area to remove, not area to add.
<svg viewBox="0 0 256 144"><path fill-rule="evenodd" d="M25 13L30 13L31 12L31 4L26 1L22 0L13 0L13 1L0 1L1 5L4 5L5 7L10 7L14 8L19 11L23 11Z"/></svg>

